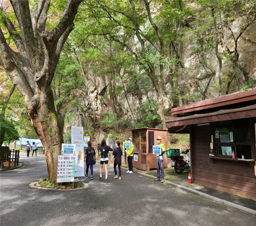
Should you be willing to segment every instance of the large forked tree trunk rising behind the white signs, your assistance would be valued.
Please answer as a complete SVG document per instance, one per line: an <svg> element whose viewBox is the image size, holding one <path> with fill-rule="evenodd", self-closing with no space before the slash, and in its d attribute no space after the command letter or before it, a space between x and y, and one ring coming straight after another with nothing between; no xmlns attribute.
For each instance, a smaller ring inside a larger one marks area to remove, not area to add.
<svg viewBox="0 0 256 226"><path fill-rule="evenodd" d="M68 0L60 22L50 32L46 28L50 0L39 0L34 11L28 0L10 0L20 32L0 7L1 20L14 41L13 51L0 29L0 57L13 85L25 98L33 127L45 147L49 179L56 182L58 155L63 142L64 115L54 106L50 88L63 45L74 28L74 17L83 0ZM21 33L21 35L19 35ZM58 144L52 142L57 140Z"/></svg>

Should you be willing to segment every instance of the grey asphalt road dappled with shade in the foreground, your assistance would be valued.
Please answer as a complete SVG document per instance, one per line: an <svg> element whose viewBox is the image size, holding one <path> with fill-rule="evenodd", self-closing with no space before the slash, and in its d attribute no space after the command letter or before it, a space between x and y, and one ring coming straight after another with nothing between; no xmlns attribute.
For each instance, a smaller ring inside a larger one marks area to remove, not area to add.
<svg viewBox="0 0 256 226"><path fill-rule="evenodd" d="M29 187L47 178L44 156L26 158L24 167L1 173L1 226L255 226L256 216L197 194L124 173L108 183L80 178L87 189L54 191ZM123 170L124 172L126 170ZM90 173L89 173L90 174Z"/></svg>

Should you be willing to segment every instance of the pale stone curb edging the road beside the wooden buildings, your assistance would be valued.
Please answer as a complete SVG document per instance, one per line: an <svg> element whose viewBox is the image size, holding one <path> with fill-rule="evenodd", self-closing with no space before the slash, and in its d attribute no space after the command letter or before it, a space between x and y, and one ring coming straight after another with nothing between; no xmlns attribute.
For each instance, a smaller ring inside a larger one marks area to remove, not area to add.
<svg viewBox="0 0 256 226"><path fill-rule="evenodd" d="M149 174L144 174L144 173L141 173L141 172L137 172L137 174L141 174L141 175L143 175L143 176L156 179L156 177L154 177L154 176L152 176L152 175L149 175ZM250 208L247 208L247 207L244 207L244 206L240 206L240 205L235 204L235 203L233 203L233 202L228 202L228 201L223 200L223 199L221 199L221 198L217 198L217 197L214 197L214 196L212 196L212 195L205 194L205 193L203 193L203 192L201 192L201 191L197 191L197 190L188 188L188 187L186 187L186 186L178 185L178 184L175 184L175 183L169 182L169 181L165 181L165 182L168 183L168 184L171 184L171 185L173 185L173 186L176 186L176 187L183 188L183 189L185 189L185 190L194 192L194 193L199 194L199 195L201 195L201 196L203 196L203 197L205 197L205 198L209 198L209 199L211 199L211 200L213 200L213 201L215 201L215 202L220 202L220 203L225 204L225 205L227 205L227 206L231 206L231 207L233 207L233 208L235 208L235 209L237 209L237 210L242 210L242 211L244 211L244 212L246 212L246 213L248 213L248 214L256 215L256 210L252 210L252 209L250 209Z"/></svg>

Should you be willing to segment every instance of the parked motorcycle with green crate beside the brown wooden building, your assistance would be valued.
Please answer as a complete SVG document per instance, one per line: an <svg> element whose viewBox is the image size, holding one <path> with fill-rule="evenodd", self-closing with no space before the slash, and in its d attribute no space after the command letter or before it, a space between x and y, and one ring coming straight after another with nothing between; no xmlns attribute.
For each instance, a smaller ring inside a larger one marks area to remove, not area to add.
<svg viewBox="0 0 256 226"><path fill-rule="evenodd" d="M174 167L174 170L177 174L182 174L184 170L190 169L190 153L189 149L185 149L182 151L182 154L185 155L185 161L183 156L173 156L170 157L172 160L172 167Z"/></svg>

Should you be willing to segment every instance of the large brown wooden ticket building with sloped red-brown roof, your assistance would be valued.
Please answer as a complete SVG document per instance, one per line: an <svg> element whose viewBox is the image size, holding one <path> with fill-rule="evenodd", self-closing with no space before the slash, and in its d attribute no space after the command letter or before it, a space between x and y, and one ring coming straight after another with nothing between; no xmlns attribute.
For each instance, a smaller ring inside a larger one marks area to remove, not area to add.
<svg viewBox="0 0 256 226"><path fill-rule="evenodd" d="M190 133L194 183L256 200L256 161L248 161L256 158L256 89L171 112L176 117L166 121L169 133ZM239 160L242 155L248 160Z"/></svg>

